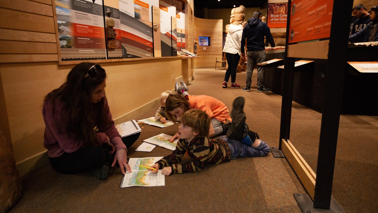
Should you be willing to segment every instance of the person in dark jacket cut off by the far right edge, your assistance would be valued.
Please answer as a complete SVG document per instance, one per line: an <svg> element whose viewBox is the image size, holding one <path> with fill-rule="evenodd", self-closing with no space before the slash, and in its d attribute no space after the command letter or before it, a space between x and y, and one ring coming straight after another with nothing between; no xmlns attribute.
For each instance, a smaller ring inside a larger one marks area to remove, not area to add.
<svg viewBox="0 0 378 213"><path fill-rule="evenodd" d="M372 21L366 25L362 30L349 36L349 41L358 39L361 42L378 41L378 6L370 9L370 19Z"/></svg>

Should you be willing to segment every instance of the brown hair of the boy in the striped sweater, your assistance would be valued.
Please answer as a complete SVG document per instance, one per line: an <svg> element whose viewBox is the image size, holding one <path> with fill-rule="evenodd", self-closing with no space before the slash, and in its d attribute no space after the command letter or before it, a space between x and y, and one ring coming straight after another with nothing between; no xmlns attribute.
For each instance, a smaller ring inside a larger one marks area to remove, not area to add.
<svg viewBox="0 0 378 213"><path fill-rule="evenodd" d="M198 137L209 135L211 119L206 112L198 109L188 110L181 116L181 123L191 127Z"/></svg>

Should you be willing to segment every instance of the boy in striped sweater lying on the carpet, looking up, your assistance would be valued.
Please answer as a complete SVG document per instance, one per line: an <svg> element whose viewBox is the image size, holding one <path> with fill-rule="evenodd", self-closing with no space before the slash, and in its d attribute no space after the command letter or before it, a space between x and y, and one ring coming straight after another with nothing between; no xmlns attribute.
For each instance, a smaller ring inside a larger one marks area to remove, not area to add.
<svg viewBox="0 0 378 213"><path fill-rule="evenodd" d="M245 114L239 114L233 123L235 131L245 132ZM181 116L181 124L178 127L180 141L172 154L157 161L152 168L162 169L162 174L197 172L201 171L205 164L218 164L227 162L237 157L259 157L268 155L269 146L260 140L259 136L249 131L248 135L253 138L253 143L244 144L240 141L220 136L215 139L208 137L211 119L202 110L191 109ZM188 152L192 162L180 164L183 155ZM158 170L152 170L153 173Z"/></svg>

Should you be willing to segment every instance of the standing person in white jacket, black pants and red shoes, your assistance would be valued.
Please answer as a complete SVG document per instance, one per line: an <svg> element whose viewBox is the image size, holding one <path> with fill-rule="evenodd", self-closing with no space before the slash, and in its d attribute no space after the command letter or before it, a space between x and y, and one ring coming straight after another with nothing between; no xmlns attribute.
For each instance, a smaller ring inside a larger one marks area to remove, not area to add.
<svg viewBox="0 0 378 213"><path fill-rule="evenodd" d="M242 41L243 26L241 24L230 24L228 34L226 37L225 47L223 52L226 54L228 69L226 70L225 80L222 87L227 88L227 82L231 75L231 88L240 88L240 85L235 83L236 68L240 60L240 42Z"/></svg>

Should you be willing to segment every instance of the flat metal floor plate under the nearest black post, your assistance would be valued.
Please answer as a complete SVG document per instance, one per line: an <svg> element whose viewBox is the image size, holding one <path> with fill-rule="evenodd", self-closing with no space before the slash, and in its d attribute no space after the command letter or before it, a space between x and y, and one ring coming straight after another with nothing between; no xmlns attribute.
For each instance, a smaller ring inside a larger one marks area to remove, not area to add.
<svg viewBox="0 0 378 213"><path fill-rule="evenodd" d="M336 201L331 197L331 205L330 209L322 209L322 208L314 208L314 202L312 201L311 197L308 194L298 194L294 193L294 198L301 208L302 213L314 213L314 212L321 212L321 213L344 213L344 211L339 207Z"/></svg>

